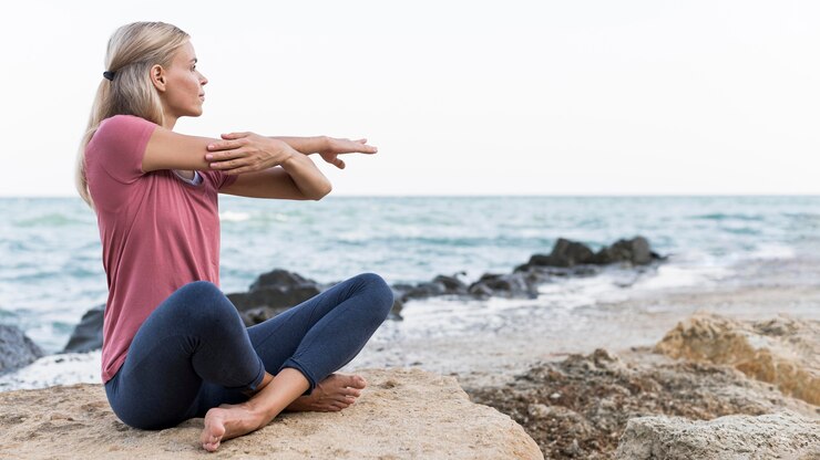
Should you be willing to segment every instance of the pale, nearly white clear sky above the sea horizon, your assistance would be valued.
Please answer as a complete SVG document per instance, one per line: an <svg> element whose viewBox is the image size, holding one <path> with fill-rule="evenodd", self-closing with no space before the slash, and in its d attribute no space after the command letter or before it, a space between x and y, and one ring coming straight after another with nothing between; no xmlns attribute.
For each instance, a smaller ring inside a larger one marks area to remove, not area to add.
<svg viewBox="0 0 820 460"><path fill-rule="evenodd" d="M0 18L0 196L75 196L114 30L192 35L218 137L367 137L334 194L820 194L820 2L28 1Z"/></svg>

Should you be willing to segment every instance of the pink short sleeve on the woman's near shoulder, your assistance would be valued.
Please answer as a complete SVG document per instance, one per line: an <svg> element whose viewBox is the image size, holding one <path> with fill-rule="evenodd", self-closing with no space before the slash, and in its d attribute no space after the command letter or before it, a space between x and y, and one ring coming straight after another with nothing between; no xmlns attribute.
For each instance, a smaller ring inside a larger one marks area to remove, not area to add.
<svg viewBox="0 0 820 460"><path fill-rule="evenodd" d="M98 164L114 180L131 184L145 172L142 159L156 125L133 115L104 119L89 143Z"/></svg>

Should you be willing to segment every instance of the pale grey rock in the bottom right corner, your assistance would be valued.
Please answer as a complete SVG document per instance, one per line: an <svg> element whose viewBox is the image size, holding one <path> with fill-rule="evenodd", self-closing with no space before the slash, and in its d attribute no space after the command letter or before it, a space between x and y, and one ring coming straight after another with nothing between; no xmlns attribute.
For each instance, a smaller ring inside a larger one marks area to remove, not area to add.
<svg viewBox="0 0 820 460"><path fill-rule="evenodd" d="M817 459L820 458L820 420L793 412L728 416L709 421L640 417L626 425L615 458Z"/></svg>

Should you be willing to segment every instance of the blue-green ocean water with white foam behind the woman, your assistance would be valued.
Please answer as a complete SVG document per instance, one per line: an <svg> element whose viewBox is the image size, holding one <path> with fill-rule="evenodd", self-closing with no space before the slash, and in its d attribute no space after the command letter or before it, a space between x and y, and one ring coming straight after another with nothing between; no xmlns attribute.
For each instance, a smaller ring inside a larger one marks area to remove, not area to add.
<svg viewBox="0 0 820 460"><path fill-rule="evenodd" d="M0 198L0 323L57 353L83 313L106 299L95 216L80 198ZM598 249L639 234L669 255L653 270L613 269L513 302L524 310L552 305L562 312L556 321L623 294L624 285L737 282L745 264L820 253L820 197L222 197L219 216L226 293L246 291L275 268L322 283L361 272L390 284L457 273L469 282L509 273L530 255L549 253L558 238ZM489 305L485 311L511 304ZM473 311L467 301L411 303L407 325L390 327L411 328L418 314L426 333L475 333L499 317Z"/></svg>

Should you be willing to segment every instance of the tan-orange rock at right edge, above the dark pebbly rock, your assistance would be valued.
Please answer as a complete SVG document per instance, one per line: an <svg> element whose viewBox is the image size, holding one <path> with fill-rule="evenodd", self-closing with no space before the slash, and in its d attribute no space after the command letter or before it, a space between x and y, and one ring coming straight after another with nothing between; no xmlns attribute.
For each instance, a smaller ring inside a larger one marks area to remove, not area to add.
<svg viewBox="0 0 820 460"><path fill-rule="evenodd" d="M757 323L697 312L655 349L673 358L737 368L787 395L820 405L820 322L781 315Z"/></svg>

